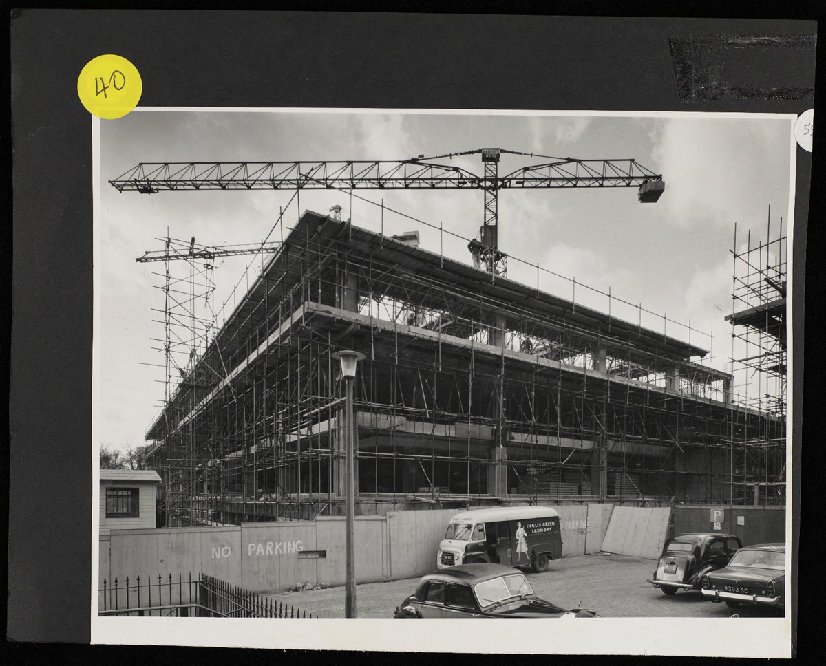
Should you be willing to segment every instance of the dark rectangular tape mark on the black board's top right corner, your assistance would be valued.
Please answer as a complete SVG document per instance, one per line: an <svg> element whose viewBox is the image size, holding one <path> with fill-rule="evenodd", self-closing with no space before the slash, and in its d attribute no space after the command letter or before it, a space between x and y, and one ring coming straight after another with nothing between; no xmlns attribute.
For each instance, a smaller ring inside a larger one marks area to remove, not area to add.
<svg viewBox="0 0 826 666"><path fill-rule="evenodd" d="M814 99L816 35L675 37L680 102Z"/></svg>

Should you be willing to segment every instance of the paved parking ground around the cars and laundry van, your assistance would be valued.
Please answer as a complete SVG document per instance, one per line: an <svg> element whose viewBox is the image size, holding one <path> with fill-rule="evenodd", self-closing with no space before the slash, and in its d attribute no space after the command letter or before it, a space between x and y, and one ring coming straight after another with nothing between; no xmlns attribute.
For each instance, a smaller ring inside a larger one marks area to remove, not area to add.
<svg viewBox="0 0 826 666"><path fill-rule="evenodd" d="M539 597L559 606L594 608L605 617L743 617L776 616L774 609L714 603L699 592L667 597L646 579L655 561L627 555L582 555L551 562L543 574L527 573ZM362 583L356 592L358 617L392 617L418 579ZM282 593L273 598L320 617L344 617L344 587Z"/></svg>

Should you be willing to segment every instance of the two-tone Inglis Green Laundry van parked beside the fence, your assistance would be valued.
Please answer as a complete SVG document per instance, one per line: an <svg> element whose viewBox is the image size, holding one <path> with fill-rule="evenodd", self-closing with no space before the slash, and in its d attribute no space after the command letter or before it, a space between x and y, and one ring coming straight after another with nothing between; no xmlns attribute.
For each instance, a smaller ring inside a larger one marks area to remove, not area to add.
<svg viewBox="0 0 826 666"><path fill-rule="evenodd" d="M563 554L559 514L549 507L472 509L450 519L439 543L439 569L492 562L540 572Z"/></svg>

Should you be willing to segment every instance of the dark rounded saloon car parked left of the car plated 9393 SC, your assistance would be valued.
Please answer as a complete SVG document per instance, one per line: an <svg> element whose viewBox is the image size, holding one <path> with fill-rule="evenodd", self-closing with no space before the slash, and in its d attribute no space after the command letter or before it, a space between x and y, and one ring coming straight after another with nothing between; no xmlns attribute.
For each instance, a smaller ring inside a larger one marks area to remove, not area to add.
<svg viewBox="0 0 826 666"><path fill-rule="evenodd" d="M657 569L648 583L669 595L680 589L700 589L703 576L729 564L742 547L733 534L689 532L672 536L662 547Z"/></svg>

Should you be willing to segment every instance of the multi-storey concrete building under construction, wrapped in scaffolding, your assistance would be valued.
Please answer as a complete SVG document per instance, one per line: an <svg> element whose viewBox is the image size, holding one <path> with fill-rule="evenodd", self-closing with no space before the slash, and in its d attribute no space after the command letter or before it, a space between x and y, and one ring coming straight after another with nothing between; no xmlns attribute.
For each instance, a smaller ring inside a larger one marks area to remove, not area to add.
<svg viewBox="0 0 826 666"><path fill-rule="evenodd" d="M343 512L344 349L361 514L745 501L757 433L761 474L785 460L785 413L704 349L335 215L304 212L210 338L146 435L169 526Z"/></svg>

